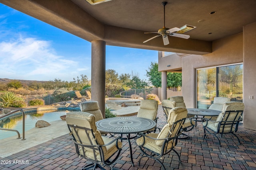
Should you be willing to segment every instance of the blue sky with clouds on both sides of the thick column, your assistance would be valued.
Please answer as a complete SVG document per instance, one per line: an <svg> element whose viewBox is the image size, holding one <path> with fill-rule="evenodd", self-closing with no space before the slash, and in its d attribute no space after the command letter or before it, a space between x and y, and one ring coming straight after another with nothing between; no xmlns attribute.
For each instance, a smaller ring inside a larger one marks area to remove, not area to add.
<svg viewBox="0 0 256 170"><path fill-rule="evenodd" d="M106 69L138 74L158 61L158 52L106 46ZM0 4L0 78L71 81L91 79L91 43Z"/></svg>

